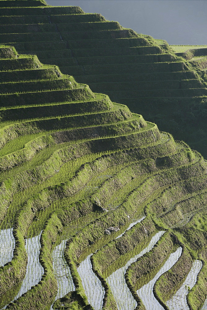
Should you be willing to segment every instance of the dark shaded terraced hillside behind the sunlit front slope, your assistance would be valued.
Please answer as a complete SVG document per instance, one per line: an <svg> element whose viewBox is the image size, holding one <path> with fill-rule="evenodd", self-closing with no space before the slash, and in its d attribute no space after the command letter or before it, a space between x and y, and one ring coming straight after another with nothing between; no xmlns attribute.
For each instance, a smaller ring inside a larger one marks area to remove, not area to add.
<svg viewBox="0 0 207 310"><path fill-rule="evenodd" d="M28 0L4 0L0 6L2 44L58 65L64 74L126 104L207 158L206 61L187 61L167 42L80 7Z"/></svg>

